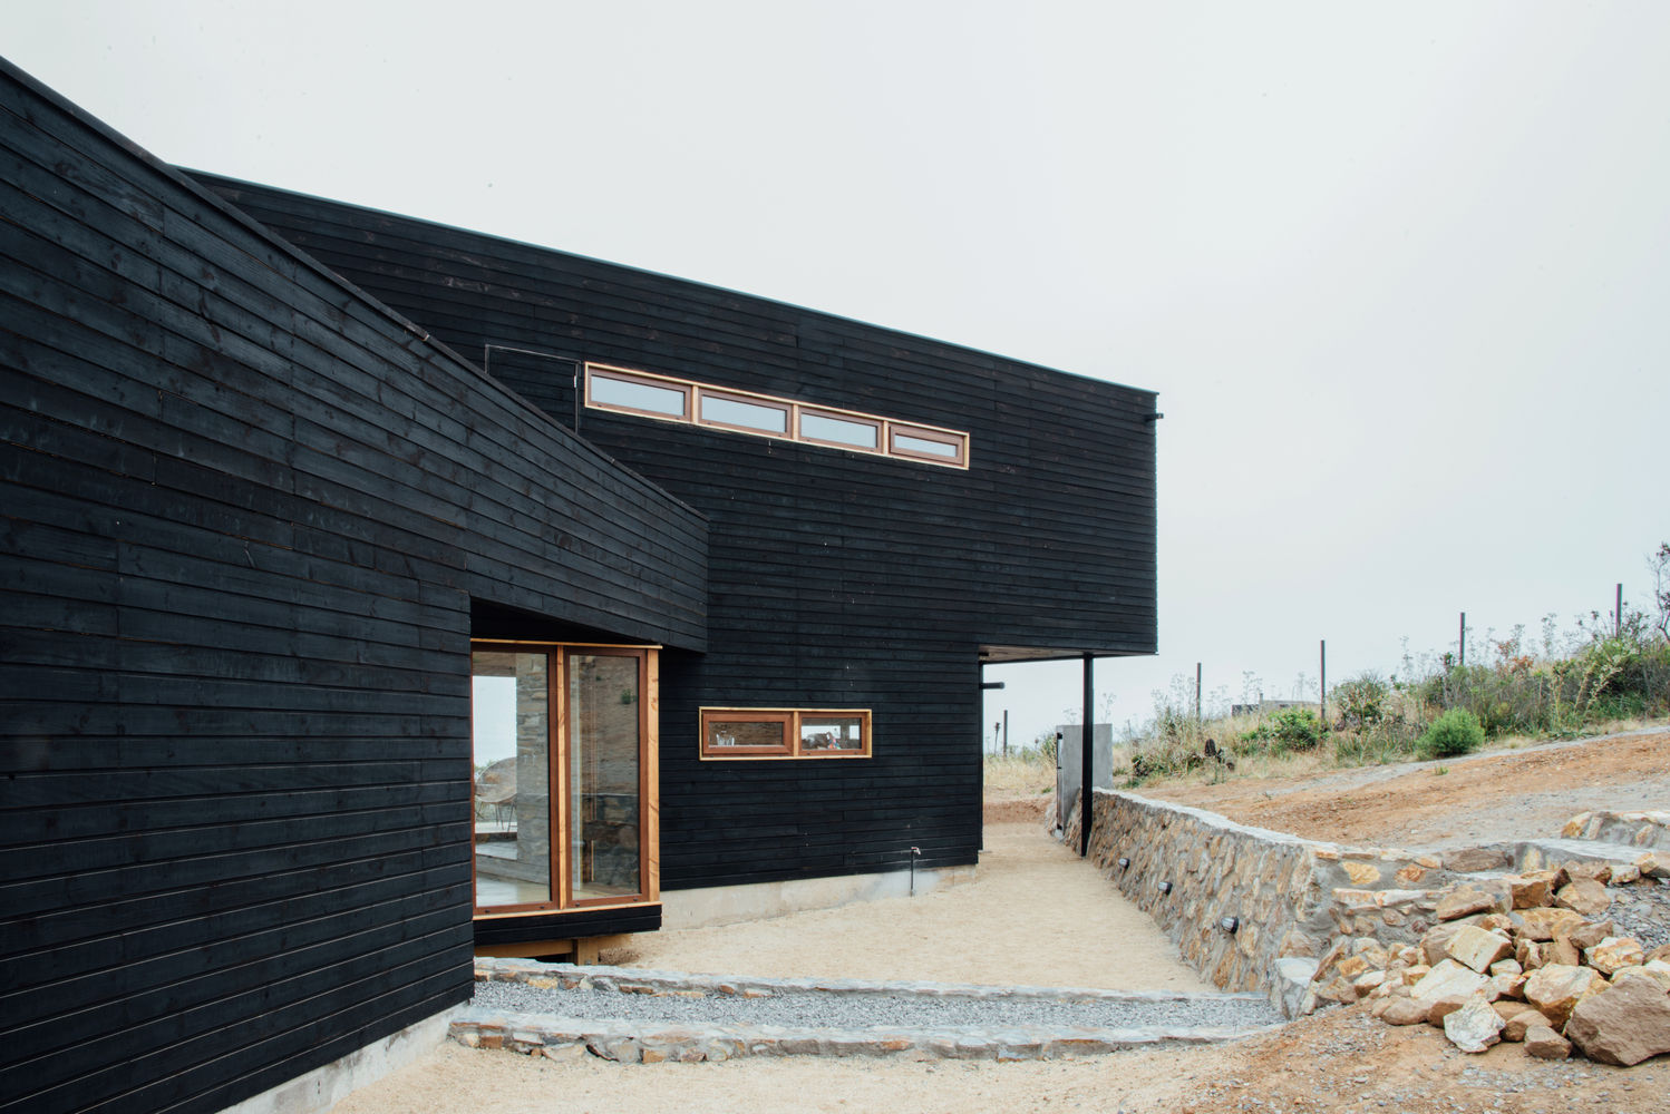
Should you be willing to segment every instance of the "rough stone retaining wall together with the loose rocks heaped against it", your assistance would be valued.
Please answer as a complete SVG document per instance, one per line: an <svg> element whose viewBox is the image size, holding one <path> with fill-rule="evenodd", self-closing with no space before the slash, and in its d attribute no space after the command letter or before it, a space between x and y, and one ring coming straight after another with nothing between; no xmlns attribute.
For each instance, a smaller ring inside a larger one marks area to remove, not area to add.
<svg viewBox="0 0 1670 1114"><path fill-rule="evenodd" d="M1510 1039L1563 1057L1575 1044L1612 1064L1670 1052L1670 814L1586 812L1558 839L1413 852L1126 792L1097 790L1094 809L1096 866L1182 959L1289 1017L1368 997L1376 1016L1441 1026L1463 1051ZM1069 844L1077 827L1074 810ZM1620 887L1645 897L1618 901Z"/></svg>

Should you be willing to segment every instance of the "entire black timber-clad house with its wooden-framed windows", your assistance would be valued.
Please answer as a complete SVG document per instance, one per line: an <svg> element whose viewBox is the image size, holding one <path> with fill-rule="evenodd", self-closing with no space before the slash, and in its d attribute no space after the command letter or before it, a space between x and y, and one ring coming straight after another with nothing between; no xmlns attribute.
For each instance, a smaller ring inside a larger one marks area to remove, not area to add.
<svg viewBox="0 0 1670 1114"><path fill-rule="evenodd" d="M1151 392L182 173L10 68L0 155L0 1111L970 867L982 665L1154 650Z"/></svg>

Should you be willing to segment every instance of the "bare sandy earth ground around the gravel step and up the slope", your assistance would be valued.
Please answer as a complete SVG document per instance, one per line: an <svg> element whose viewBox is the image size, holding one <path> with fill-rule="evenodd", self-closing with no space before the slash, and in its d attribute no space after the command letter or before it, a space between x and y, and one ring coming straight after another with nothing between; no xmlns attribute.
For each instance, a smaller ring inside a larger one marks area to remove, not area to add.
<svg viewBox="0 0 1670 1114"><path fill-rule="evenodd" d="M1448 760L1441 775L1431 765L1374 767L1144 792L1224 810L1246 824L1341 842L1481 842L1500 837L1498 829L1558 834L1570 815L1593 807L1670 807L1667 755L1670 734L1660 730ZM633 944L633 962L746 974L1191 986L1196 976L1176 964L1169 946L1152 942L1146 917L1136 914L1136 922L1124 922L1104 909L1124 906L1109 882L1049 841L1035 820L1009 819L1037 810L1037 800L989 807L987 856L974 884L917 899L641 937ZM1007 822L992 822L995 817ZM1087 926L1082 936L1079 924ZM1586 1061L1548 1064L1511 1044L1463 1056L1435 1029L1383 1026L1351 1007L1226 1046L1030 1064L810 1057L556 1064L448 1044L336 1109L1665 1114L1670 1059L1633 1069Z"/></svg>

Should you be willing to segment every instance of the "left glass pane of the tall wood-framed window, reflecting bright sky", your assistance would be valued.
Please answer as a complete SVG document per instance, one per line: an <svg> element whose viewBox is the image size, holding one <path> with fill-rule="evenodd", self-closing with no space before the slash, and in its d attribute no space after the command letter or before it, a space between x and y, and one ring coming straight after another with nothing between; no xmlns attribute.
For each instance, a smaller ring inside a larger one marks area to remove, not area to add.
<svg viewBox="0 0 1670 1114"><path fill-rule="evenodd" d="M551 901L551 690L544 654L471 654L476 904Z"/></svg>

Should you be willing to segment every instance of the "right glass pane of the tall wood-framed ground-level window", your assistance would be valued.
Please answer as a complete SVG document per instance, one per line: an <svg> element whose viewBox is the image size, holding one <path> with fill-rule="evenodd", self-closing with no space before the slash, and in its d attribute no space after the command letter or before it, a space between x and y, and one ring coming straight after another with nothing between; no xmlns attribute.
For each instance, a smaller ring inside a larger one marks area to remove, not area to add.
<svg viewBox="0 0 1670 1114"><path fill-rule="evenodd" d="M574 901L640 889L638 657L568 655L568 779Z"/></svg>

